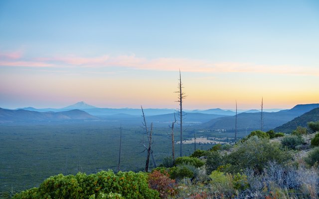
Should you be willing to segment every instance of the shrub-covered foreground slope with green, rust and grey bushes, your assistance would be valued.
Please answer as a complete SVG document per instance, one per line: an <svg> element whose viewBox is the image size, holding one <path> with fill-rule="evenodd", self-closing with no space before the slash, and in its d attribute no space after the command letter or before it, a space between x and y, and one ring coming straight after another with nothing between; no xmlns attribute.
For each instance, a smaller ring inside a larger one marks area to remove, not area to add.
<svg viewBox="0 0 319 199"><path fill-rule="evenodd" d="M255 131L234 146L165 158L151 173L57 175L13 199L318 199L319 122L309 127Z"/></svg>

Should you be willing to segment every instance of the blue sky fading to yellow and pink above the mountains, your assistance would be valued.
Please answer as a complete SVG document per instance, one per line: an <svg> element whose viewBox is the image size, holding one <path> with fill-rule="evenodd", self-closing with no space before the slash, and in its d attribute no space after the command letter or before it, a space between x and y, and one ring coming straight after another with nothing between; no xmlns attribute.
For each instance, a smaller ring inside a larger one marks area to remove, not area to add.
<svg viewBox="0 0 319 199"><path fill-rule="evenodd" d="M0 107L319 103L318 0L1 0Z"/></svg>

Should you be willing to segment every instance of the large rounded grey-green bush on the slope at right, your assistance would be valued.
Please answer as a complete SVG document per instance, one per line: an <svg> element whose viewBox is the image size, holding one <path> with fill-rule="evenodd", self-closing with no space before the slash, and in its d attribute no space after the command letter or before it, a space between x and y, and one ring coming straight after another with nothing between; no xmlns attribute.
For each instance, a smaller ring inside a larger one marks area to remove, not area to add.
<svg viewBox="0 0 319 199"><path fill-rule="evenodd" d="M288 152L281 150L279 143L254 136L245 142L238 143L234 151L225 157L225 163L231 165L232 173L241 172L246 168L262 172L269 161L282 164L290 158Z"/></svg>

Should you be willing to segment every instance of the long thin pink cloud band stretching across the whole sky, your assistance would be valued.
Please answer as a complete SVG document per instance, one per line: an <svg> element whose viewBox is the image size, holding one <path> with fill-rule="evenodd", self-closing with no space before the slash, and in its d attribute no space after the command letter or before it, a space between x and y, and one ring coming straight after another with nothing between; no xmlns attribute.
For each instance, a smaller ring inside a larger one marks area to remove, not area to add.
<svg viewBox="0 0 319 199"><path fill-rule="evenodd" d="M25 66L25 67L126 67L141 70L176 71L179 68L185 72L222 72L222 73L271 73L291 75L312 75L319 76L318 67L302 67L290 65L260 65L254 63L222 62L213 63L205 60L187 58L156 58L146 59L135 55L110 56L102 55L97 57L79 57L74 55L57 56L48 58L34 58L23 60L21 54L0 53L0 66ZM19 59L19 60L17 60Z"/></svg>

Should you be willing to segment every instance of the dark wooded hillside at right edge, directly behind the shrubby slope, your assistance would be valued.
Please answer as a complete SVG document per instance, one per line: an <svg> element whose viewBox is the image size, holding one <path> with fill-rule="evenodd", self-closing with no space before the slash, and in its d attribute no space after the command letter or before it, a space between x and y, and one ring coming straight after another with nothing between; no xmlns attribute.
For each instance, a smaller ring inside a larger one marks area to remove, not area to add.
<svg viewBox="0 0 319 199"><path fill-rule="evenodd" d="M292 133L298 126L307 127L307 123L311 121L319 121L319 108L315 108L292 121L275 128L274 131Z"/></svg>

